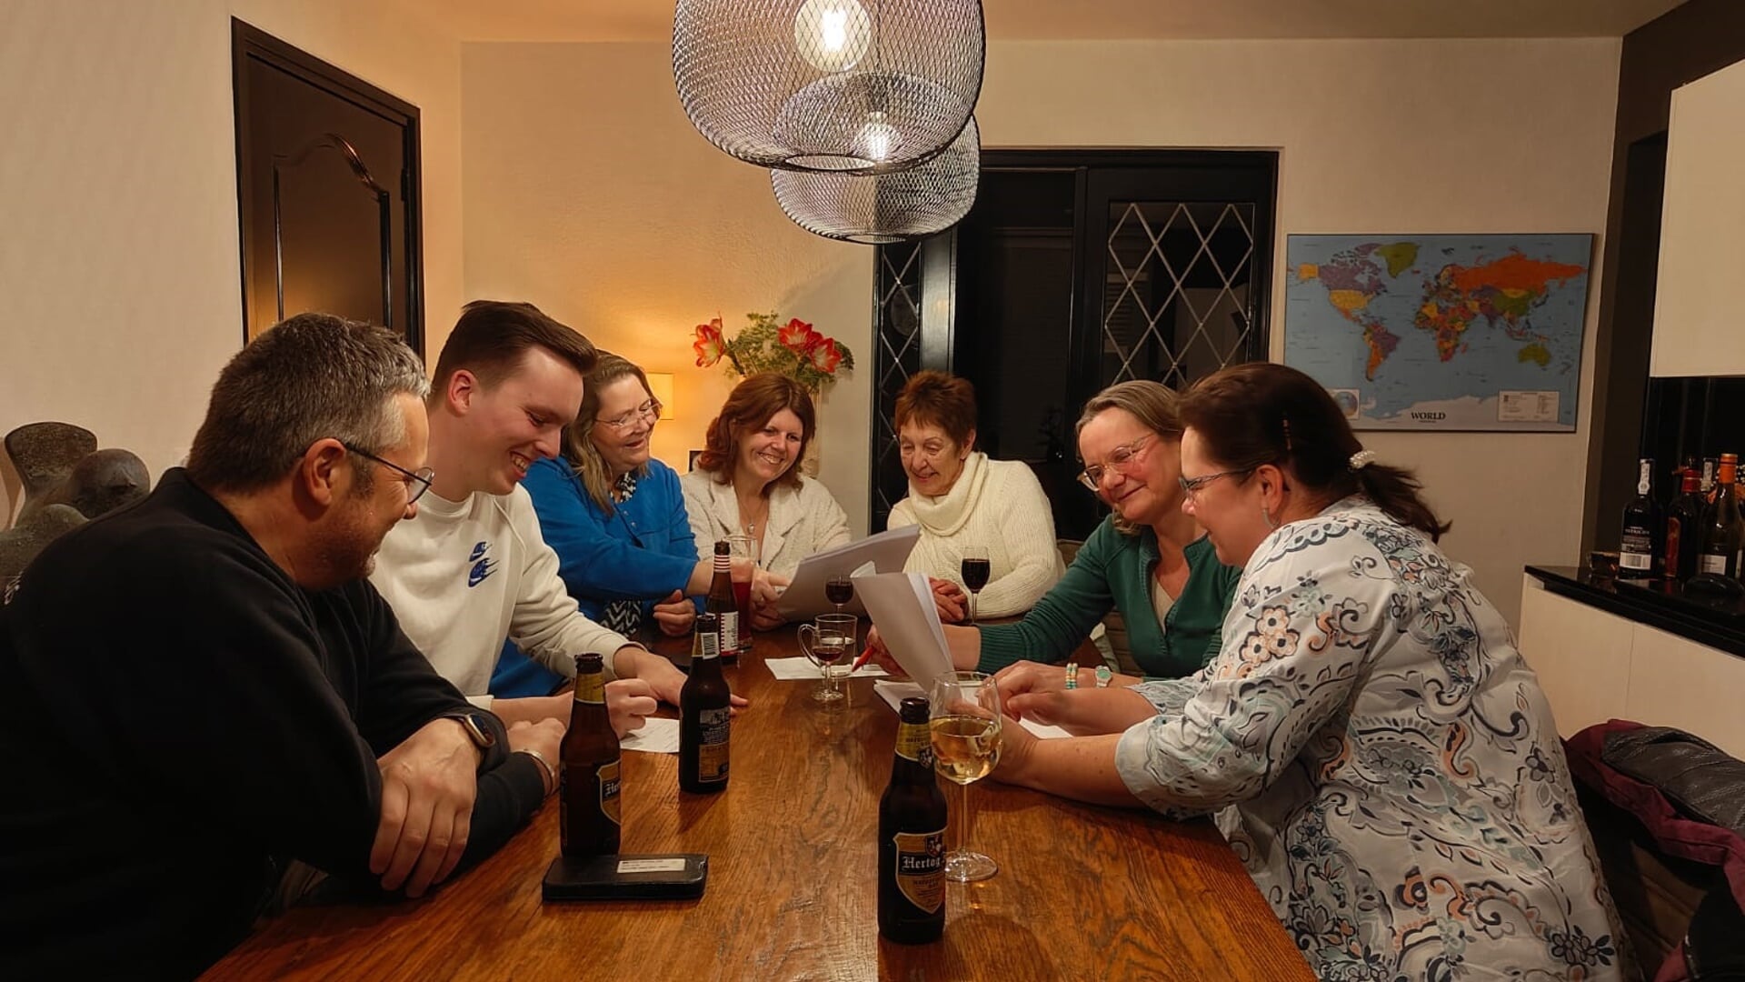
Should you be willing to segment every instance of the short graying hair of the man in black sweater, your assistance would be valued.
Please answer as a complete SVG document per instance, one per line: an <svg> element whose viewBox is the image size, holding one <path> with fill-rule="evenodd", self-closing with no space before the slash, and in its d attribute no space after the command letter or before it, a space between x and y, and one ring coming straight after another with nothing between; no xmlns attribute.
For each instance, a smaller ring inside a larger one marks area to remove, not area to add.
<svg viewBox="0 0 1745 982"><path fill-rule="evenodd" d="M333 315L297 315L218 374L188 477L208 491L258 491L326 437L380 453L407 439L405 418L391 411L396 395L429 395L424 365L400 337Z"/></svg>

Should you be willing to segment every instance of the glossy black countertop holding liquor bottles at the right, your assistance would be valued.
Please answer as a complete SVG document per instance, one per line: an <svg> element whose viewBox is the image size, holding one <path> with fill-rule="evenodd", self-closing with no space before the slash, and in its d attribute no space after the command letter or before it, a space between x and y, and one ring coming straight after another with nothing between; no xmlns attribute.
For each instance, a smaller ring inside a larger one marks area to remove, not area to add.
<svg viewBox="0 0 1745 982"><path fill-rule="evenodd" d="M1527 566L1527 573L1558 596L1745 657L1745 596L1686 591L1658 577L1618 580L1577 566Z"/></svg>

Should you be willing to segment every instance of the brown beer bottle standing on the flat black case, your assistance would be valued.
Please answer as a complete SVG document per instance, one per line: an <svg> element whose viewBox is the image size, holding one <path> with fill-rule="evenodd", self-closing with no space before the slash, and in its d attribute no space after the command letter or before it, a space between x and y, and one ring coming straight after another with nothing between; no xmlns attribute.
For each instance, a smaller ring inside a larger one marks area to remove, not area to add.
<svg viewBox="0 0 1745 982"><path fill-rule="evenodd" d="M606 715L600 655L576 655L576 702L558 748L557 804L564 854L618 853L618 734Z"/></svg>

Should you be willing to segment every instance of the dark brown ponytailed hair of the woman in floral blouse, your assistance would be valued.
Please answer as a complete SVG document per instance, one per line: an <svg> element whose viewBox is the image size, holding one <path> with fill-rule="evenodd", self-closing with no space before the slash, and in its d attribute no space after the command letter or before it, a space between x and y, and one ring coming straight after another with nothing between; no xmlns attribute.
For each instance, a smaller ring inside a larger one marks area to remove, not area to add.
<svg viewBox="0 0 1745 982"><path fill-rule="evenodd" d="M1222 467L1288 467L1310 494L1337 501L1363 493L1394 521L1436 542L1450 522L1419 494L1410 470L1370 463L1351 423L1321 383L1288 365L1248 362L1206 376L1181 397L1181 421L1194 428Z"/></svg>

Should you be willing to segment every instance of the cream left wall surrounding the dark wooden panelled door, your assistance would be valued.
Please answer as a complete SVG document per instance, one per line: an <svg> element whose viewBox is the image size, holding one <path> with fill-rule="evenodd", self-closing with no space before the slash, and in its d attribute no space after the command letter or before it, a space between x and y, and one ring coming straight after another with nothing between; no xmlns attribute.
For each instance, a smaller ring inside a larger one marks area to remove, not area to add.
<svg viewBox="0 0 1745 982"><path fill-rule="evenodd" d="M461 49L349 0L0 2L0 433L185 453L241 348L230 17L417 105L429 342L461 304ZM17 505L0 454L0 528Z"/></svg>

